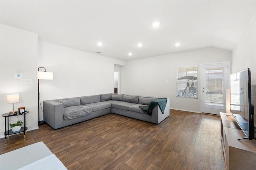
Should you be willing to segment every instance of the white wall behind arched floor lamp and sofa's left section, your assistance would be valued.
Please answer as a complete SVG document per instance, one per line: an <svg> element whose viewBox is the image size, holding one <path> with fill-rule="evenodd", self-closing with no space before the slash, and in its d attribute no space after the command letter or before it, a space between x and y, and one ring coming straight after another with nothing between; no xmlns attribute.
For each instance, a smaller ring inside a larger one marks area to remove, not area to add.
<svg viewBox="0 0 256 170"><path fill-rule="evenodd" d="M38 41L38 67L53 72L53 80L40 80L41 103L43 100L113 93L114 64L125 65L125 61ZM41 112L40 120L42 115Z"/></svg>

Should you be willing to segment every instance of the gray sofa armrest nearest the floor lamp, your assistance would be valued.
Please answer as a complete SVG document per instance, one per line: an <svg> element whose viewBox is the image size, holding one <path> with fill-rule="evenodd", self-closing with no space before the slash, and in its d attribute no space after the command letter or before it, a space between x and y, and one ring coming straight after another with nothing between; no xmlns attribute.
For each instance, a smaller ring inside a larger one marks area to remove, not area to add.
<svg viewBox="0 0 256 170"><path fill-rule="evenodd" d="M44 101L44 121L53 129L64 126L63 123L63 104L53 100Z"/></svg>

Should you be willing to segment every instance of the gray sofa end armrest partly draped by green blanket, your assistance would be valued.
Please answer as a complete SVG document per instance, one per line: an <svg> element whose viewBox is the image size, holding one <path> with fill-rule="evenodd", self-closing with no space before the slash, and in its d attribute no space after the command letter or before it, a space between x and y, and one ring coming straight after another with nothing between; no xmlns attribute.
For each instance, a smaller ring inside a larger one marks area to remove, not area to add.
<svg viewBox="0 0 256 170"><path fill-rule="evenodd" d="M152 110L151 122L158 124L161 121L163 121L166 117L168 117L169 115L170 115L170 99L167 98L166 106L164 109L164 114L162 113L160 107L157 105Z"/></svg>

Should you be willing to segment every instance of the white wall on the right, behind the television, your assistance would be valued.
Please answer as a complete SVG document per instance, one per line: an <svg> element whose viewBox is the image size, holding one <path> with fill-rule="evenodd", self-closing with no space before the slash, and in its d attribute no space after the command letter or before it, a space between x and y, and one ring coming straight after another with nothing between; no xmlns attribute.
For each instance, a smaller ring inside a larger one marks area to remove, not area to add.
<svg viewBox="0 0 256 170"><path fill-rule="evenodd" d="M248 24L246 32L232 51L231 73L250 68L252 104L256 113L256 17ZM256 126L256 116L254 125Z"/></svg>

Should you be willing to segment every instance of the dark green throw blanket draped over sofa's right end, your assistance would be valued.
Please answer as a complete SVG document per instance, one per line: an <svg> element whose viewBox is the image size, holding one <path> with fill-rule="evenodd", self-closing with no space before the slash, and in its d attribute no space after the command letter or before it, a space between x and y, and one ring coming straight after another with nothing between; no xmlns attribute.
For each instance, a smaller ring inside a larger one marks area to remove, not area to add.
<svg viewBox="0 0 256 170"><path fill-rule="evenodd" d="M149 106L139 106L140 109L144 112L147 113L149 115L152 115L152 110L159 105L162 113L164 114L164 109L166 106L166 102L167 102L167 98L159 98L156 100L152 100L149 104Z"/></svg>

